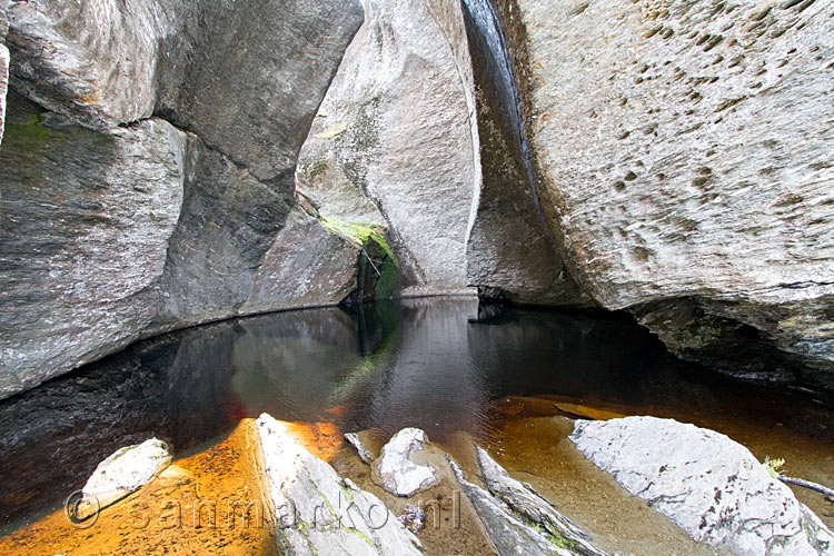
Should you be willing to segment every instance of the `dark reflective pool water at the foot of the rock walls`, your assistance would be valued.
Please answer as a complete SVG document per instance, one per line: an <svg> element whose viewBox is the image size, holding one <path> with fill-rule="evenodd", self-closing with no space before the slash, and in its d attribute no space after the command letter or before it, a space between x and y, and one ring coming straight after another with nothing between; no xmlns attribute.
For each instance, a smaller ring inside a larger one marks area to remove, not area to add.
<svg viewBox="0 0 834 556"><path fill-rule="evenodd" d="M542 394L646 413L767 413L814 434L796 410L812 401L716 381L617 316L479 311L473 299L290 311L148 340L0 403L0 527L59 503L98 461L151 435L182 454L268 411L342 431L485 439L490 400Z"/></svg>

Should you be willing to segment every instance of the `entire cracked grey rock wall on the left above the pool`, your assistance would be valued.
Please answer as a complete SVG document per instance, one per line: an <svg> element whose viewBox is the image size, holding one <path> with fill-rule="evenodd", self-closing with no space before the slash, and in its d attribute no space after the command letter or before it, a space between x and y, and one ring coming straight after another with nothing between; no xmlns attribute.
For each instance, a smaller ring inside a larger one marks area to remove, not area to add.
<svg viewBox="0 0 834 556"><path fill-rule="evenodd" d="M296 202L292 173L358 0L2 10L0 397L159 331L356 288L359 245Z"/></svg>

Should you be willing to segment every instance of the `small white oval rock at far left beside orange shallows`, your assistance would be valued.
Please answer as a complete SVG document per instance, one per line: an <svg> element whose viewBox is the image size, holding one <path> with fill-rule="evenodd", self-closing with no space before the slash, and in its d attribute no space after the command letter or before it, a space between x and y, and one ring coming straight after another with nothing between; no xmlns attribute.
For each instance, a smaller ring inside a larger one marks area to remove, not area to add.
<svg viewBox="0 0 834 556"><path fill-rule="evenodd" d="M139 490L171 463L168 445L158 438L121 448L96 468L81 490L75 517L86 519Z"/></svg>

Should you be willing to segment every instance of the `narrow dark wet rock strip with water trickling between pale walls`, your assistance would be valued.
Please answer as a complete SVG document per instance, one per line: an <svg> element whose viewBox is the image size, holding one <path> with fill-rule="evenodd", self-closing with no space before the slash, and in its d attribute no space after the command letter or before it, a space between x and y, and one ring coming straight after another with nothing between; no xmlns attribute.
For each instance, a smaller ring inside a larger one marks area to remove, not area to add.
<svg viewBox="0 0 834 556"><path fill-rule="evenodd" d="M466 0L463 6L481 166L466 246L469 284L483 296L516 302L589 305L540 214L498 17L489 0Z"/></svg>

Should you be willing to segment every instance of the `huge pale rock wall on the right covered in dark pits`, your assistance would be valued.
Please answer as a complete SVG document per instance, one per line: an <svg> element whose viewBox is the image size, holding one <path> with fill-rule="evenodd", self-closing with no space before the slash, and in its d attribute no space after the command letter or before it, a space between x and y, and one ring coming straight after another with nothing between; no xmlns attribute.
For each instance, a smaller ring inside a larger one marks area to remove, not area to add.
<svg viewBox="0 0 834 556"><path fill-rule="evenodd" d="M731 321L645 320L684 356L699 351L687 336L735 321L831 371L830 6L518 7L543 197L583 289L610 309L691 298Z"/></svg>

